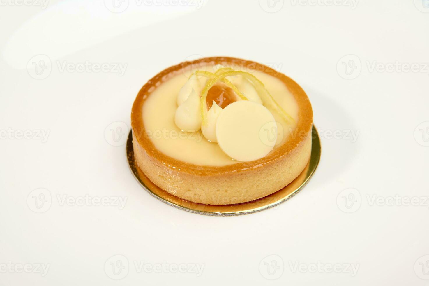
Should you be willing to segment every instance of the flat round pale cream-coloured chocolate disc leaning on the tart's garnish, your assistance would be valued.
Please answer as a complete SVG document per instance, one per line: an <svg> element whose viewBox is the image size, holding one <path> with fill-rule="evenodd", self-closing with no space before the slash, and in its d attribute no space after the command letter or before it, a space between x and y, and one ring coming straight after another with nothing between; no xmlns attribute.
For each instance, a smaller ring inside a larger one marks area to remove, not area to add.
<svg viewBox="0 0 429 286"><path fill-rule="evenodd" d="M265 157L275 144L267 145L261 129L275 128L274 116L263 105L240 100L231 103L219 114L216 122L218 145L228 156L239 161ZM263 130L262 130L263 131ZM277 137L277 133L274 135Z"/></svg>

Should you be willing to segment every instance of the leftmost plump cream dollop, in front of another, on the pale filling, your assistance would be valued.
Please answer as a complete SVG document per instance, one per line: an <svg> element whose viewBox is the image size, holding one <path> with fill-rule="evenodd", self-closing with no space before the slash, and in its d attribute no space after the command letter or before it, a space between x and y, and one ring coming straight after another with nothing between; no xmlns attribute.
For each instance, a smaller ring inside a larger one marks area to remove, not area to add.
<svg viewBox="0 0 429 286"><path fill-rule="evenodd" d="M201 111L199 109L200 98L192 89L187 97L176 110L174 122L176 126L186 132L196 132L201 128Z"/></svg>

